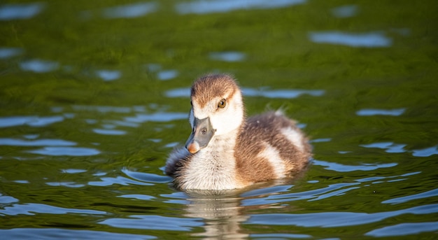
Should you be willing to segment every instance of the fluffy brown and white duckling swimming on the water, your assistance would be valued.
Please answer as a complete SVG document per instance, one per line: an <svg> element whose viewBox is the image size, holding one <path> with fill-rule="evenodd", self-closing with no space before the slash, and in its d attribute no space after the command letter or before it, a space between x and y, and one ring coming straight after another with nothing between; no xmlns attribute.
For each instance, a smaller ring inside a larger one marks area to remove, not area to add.
<svg viewBox="0 0 438 240"><path fill-rule="evenodd" d="M165 172L183 190L232 190L294 176L309 163L311 146L281 111L246 118L232 76L198 78L190 91L192 127L185 148L169 155Z"/></svg>

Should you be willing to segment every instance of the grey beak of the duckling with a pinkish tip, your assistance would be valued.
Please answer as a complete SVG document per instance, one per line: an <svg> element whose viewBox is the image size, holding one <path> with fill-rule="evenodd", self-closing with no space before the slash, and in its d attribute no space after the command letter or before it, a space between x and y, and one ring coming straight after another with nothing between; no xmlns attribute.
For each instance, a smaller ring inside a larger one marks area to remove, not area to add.
<svg viewBox="0 0 438 240"><path fill-rule="evenodd" d="M209 144L214 132L216 131L211 126L210 118L195 118L193 131L185 143L185 148L187 148L190 153L197 153Z"/></svg>

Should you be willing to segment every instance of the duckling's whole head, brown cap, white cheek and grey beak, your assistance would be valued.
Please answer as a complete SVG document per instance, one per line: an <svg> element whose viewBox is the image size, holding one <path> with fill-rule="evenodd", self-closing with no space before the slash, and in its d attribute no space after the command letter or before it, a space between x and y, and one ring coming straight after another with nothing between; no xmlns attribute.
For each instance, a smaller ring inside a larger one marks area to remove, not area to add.
<svg viewBox="0 0 438 240"><path fill-rule="evenodd" d="M211 139L239 129L244 120L241 90L231 76L198 78L190 93L192 134L185 143L190 153L209 146Z"/></svg>

